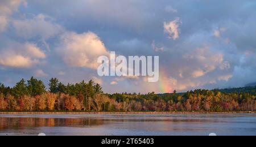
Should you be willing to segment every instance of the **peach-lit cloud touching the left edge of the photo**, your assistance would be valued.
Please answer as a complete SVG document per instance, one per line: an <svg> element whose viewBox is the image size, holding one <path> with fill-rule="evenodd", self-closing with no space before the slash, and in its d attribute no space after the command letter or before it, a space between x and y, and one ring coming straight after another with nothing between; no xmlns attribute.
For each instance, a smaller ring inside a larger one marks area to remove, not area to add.
<svg viewBox="0 0 256 147"><path fill-rule="evenodd" d="M46 55L35 44L11 42L6 48L1 49L0 64L5 67L30 68L40 63Z"/></svg>

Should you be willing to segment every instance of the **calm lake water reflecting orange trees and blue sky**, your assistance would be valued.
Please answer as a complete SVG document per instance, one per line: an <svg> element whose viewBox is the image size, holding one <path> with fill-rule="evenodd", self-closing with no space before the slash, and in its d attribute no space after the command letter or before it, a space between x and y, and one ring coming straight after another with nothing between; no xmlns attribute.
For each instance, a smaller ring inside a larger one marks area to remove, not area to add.
<svg viewBox="0 0 256 147"><path fill-rule="evenodd" d="M0 135L256 135L256 114L0 115Z"/></svg>

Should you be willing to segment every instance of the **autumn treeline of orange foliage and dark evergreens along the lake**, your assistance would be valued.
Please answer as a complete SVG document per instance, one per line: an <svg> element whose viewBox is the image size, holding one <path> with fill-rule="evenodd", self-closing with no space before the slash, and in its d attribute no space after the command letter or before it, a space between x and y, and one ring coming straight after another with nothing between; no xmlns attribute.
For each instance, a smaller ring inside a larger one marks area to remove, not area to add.
<svg viewBox="0 0 256 147"><path fill-rule="evenodd" d="M104 94L90 80L65 85L56 78L43 81L31 77L13 88L0 83L1 111L255 111L256 94L222 93L220 90L194 90L179 94Z"/></svg>

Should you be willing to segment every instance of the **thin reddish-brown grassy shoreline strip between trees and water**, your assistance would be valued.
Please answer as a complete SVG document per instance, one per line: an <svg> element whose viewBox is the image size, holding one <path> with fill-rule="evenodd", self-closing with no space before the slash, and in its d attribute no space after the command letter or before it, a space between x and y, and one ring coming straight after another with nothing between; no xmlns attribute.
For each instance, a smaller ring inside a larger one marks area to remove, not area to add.
<svg viewBox="0 0 256 147"><path fill-rule="evenodd" d="M0 114L255 114L254 111L232 112L0 112Z"/></svg>

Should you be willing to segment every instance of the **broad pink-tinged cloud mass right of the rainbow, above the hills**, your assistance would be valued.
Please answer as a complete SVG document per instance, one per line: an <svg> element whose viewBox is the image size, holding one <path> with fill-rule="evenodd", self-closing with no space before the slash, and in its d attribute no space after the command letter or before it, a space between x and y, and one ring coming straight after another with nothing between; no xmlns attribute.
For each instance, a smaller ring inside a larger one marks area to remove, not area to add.
<svg viewBox="0 0 256 147"><path fill-rule="evenodd" d="M204 44L203 47L189 49L186 52L186 54L180 53L180 55L183 54L183 58L174 58L175 64L179 59L177 66L171 64L175 70L168 71L162 67L162 72L166 72L160 77L164 87L184 91L217 85L223 82L222 80L229 81L232 78L229 62L224 59L224 54L214 49L213 46Z"/></svg>

